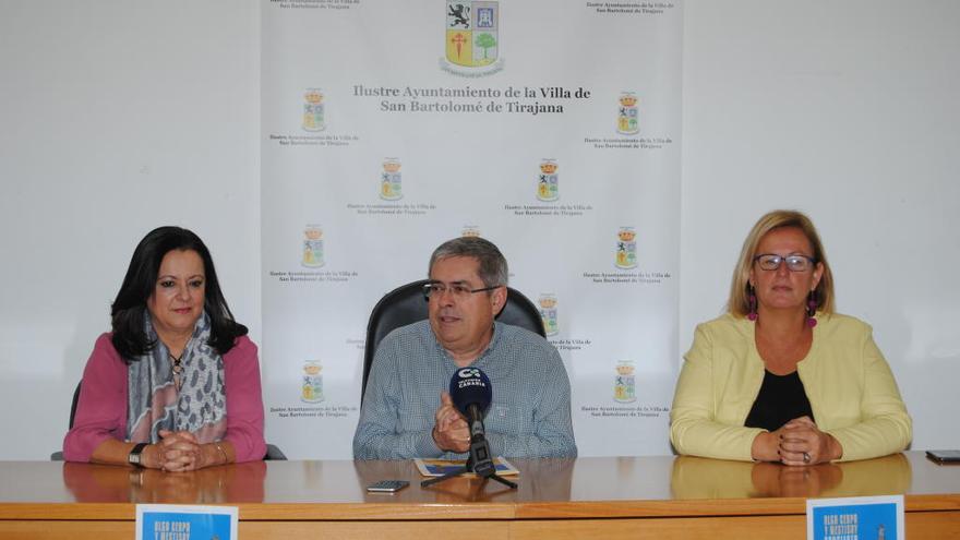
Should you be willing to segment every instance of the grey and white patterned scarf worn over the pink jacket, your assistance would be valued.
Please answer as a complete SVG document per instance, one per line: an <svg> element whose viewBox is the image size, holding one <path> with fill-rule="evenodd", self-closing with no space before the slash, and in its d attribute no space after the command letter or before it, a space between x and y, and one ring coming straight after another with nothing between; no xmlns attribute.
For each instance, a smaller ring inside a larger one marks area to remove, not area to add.
<svg viewBox="0 0 960 540"><path fill-rule="evenodd" d="M149 313L144 320L144 332L156 346L127 370L127 440L156 443L159 430L170 430L189 431L201 444L219 441L227 432L224 359L207 345L206 311L180 356L180 392L173 384L170 352L157 338Z"/></svg>

